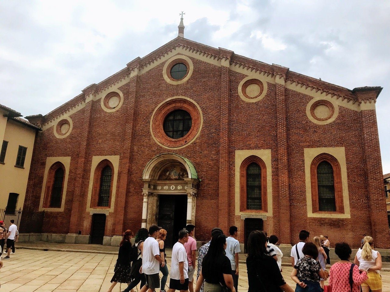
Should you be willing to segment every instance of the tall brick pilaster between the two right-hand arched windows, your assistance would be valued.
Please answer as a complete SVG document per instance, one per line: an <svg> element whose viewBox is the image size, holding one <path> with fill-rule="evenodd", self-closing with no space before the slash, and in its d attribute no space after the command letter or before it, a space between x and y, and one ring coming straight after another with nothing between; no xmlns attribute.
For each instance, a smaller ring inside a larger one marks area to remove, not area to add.
<svg viewBox="0 0 390 292"><path fill-rule="evenodd" d="M290 192L289 192L289 162L287 155L287 102L285 81L289 68L277 64L272 64L275 75L275 100L277 113L277 169L278 169L278 187L274 190L275 199L273 204L275 210L279 210L279 234L280 242L289 244L291 239L291 223L290 223ZM283 218L283 220L282 220Z"/></svg>

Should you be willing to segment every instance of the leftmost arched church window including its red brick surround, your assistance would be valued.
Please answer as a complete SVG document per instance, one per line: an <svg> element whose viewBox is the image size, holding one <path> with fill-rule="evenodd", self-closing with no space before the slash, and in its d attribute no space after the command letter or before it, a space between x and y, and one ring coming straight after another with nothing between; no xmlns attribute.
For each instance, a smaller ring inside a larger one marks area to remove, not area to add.
<svg viewBox="0 0 390 292"><path fill-rule="evenodd" d="M51 165L46 179L44 208L61 208L65 167L61 162Z"/></svg>

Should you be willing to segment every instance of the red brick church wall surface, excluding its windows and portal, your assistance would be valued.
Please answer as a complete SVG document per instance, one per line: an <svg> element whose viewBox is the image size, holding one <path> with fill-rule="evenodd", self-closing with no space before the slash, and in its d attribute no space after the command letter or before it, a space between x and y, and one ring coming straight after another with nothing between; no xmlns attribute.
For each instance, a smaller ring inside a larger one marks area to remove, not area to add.
<svg viewBox="0 0 390 292"><path fill-rule="evenodd" d="M193 72L183 84L169 84L163 77L165 59L178 53L190 58ZM46 158L71 157L64 212L46 212L43 232L90 234L92 215L86 209L92 157L105 155L120 157L114 212L107 216L105 235L138 230L145 165L168 152L190 160L201 179L196 199L197 239L208 240L213 227L228 232L229 226L236 225L243 242L244 220L235 206L235 151L269 149L273 215L264 220L268 235L276 234L280 243L289 244L306 229L311 236L328 235L332 244L347 241L356 247L365 233L373 235L377 247L389 247L376 114L374 109L359 107L375 102L378 88L347 90L181 37L127 66L43 117L24 208L39 209ZM245 102L238 94L239 83L255 74L273 82L263 81L266 95L261 100ZM117 88L124 97L121 107L111 113L96 98L102 90L110 91L107 86ZM338 104L338 116L331 123L318 125L308 119L307 104L318 92ZM161 102L175 96L199 105L203 125L191 144L167 149L152 139L151 116ZM351 106L343 106L344 100ZM77 104L82 106L77 108ZM53 133L60 116L73 121L64 139ZM351 218L307 216L304 149L319 147L345 148Z"/></svg>

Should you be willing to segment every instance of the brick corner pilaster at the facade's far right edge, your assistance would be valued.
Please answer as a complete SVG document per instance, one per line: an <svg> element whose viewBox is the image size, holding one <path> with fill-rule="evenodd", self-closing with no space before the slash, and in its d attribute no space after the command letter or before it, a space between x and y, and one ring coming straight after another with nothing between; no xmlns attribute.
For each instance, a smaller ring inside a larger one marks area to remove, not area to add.
<svg viewBox="0 0 390 292"><path fill-rule="evenodd" d="M362 111L362 140L365 153L366 185L369 199L372 237L377 248L388 248L390 237L386 212L386 199L383 193L383 170L379 147L378 124L374 103L381 87L355 88ZM365 109L367 108L367 109ZM350 190L351 191L351 190Z"/></svg>

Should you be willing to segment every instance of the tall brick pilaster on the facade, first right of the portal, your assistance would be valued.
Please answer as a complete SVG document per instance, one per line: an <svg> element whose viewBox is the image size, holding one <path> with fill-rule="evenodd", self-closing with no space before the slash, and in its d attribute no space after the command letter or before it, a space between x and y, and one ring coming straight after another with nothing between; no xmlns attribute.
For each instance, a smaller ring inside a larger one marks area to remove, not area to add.
<svg viewBox="0 0 390 292"><path fill-rule="evenodd" d="M229 99L230 99L230 58L232 51L220 49L220 157L218 181L218 227L225 233L229 228L229 202L234 204L234 193L229 193ZM231 198L232 197L232 198Z"/></svg>

